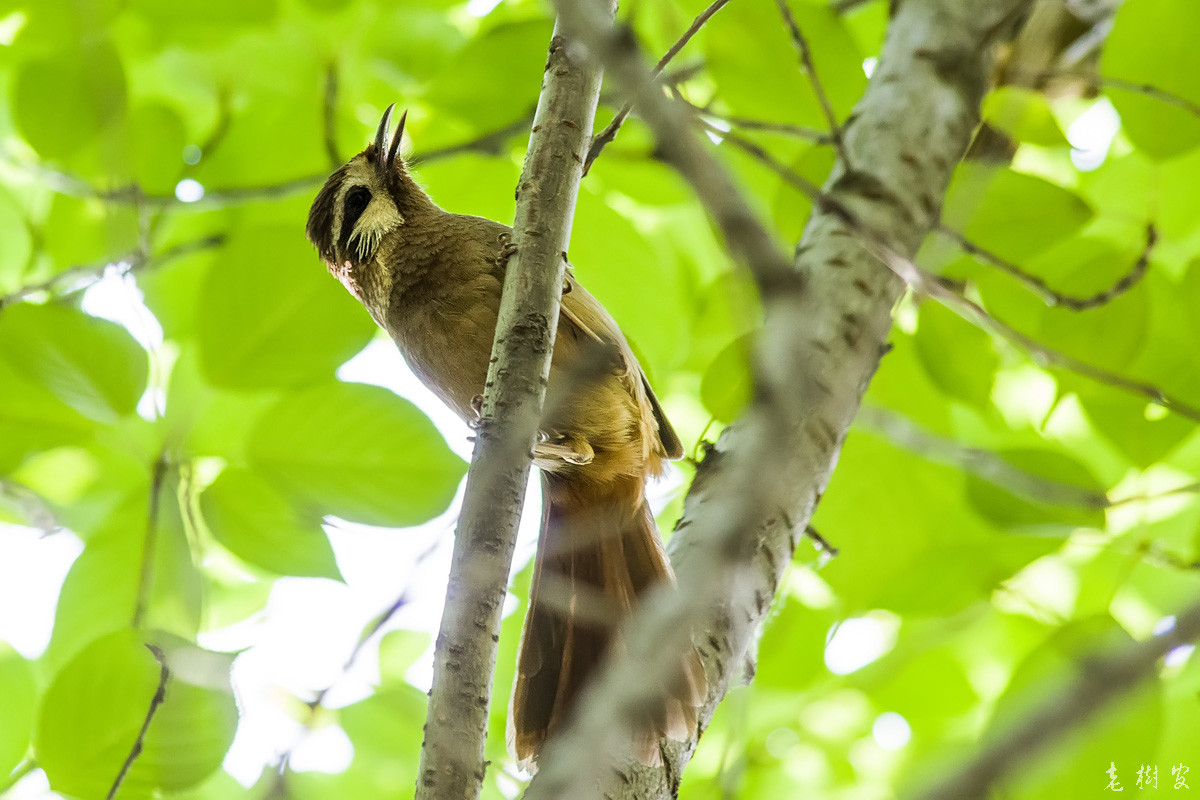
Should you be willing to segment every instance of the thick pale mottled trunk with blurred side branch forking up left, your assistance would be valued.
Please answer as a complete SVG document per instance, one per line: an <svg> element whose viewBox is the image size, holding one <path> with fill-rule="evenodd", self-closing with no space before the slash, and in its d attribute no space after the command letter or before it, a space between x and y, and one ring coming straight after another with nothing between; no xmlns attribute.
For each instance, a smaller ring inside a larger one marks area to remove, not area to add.
<svg viewBox="0 0 1200 800"><path fill-rule="evenodd" d="M830 201L817 204L794 264L780 271L768 254L745 247L748 239L757 241L744 236L749 212L726 216L744 205L740 196L715 194L725 182L714 176L722 170L679 125L682 113L655 91L628 32L606 25L594 4L557 0L559 13L580 25L581 40L635 100L658 151L688 178L731 248L751 265L764 326L755 398L702 462L671 542L679 591L646 603L631 620L628 655L606 667L574 724L551 742L529 800L587 796L616 774L622 780L608 796L674 795L698 732L673 744L659 769L614 769L614 742L656 688L647 676L666 672L677 648L686 646L689 630L704 632L700 649L710 693L701 729L739 673L828 482L904 290L857 235L858 227L869 225L905 257L916 253L978 122L994 31L1025 2L898 5L875 76L844 130L853 169L845 162L834 168L824 188ZM736 224L727 224L732 219Z"/></svg>

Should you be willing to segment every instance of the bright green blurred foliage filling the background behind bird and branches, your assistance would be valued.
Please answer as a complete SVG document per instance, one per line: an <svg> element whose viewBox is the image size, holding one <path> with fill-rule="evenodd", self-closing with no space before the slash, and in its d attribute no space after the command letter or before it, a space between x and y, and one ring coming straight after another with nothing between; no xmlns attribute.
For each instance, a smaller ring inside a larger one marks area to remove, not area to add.
<svg viewBox="0 0 1200 800"><path fill-rule="evenodd" d="M704 5L634 0L623 14L660 54ZM886 5L791 7L845 120ZM433 198L511 221L551 25L532 0L0 2L0 540L80 542L44 652L0 642L0 794L104 796L166 663L118 796L409 795L425 699L412 667L436 620L372 636L360 655L378 660L376 687L353 703L276 686L276 706L338 728L353 758L266 765L248 788L221 768L240 648L200 645L260 619L276 582L343 581L330 516L403 528L451 504L466 463L426 415L337 378L380 335L304 221L397 100ZM1193 408L1196 30L1192 0L1128 0L1099 60L1076 60L1099 80L1004 80L984 110L1006 157L960 167L946 230L919 258L1033 339ZM832 148L804 133L827 120L775 4L733 0L667 73L720 130L810 180L828 174ZM598 124L618 107L606 94ZM809 200L744 149L716 150L794 246ZM757 301L636 120L584 180L571 259L698 450L748 396ZM113 312L113 284L144 308ZM1069 297L1099 300L1073 311ZM890 342L815 518L840 554L802 547L757 674L719 709L684 798L902 793L1019 721L1084 654L1163 630L1196 594L1200 435L1186 409L1039 366L936 303L906 300ZM667 529L689 475L684 463ZM522 572L516 596L527 584ZM1159 681L1003 796L1094 796L1110 764L1127 792L1147 765L1170 788L1200 741L1190 656L1172 652ZM485 792L512 796L522 778L494 705Z"/></svg>

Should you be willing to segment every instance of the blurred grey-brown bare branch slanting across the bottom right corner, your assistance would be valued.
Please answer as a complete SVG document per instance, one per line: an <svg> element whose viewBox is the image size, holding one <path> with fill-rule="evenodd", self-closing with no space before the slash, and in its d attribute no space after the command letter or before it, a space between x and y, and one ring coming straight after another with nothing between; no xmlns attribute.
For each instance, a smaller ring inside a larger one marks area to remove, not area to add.
<svg viewBox="0 0 1200 800"><path fill-rule="evenodd" d="M1032 756L1061 741L1114 700L1152 678L1159 658L1196 638L1200 638L1200 603L1180 612L1174 627L1162 634L1080 658L1073 680L1045 696L1030 698L1027 711L1018 723L995 736L949 777L916 798L991 796L990 789Z"/></svg>

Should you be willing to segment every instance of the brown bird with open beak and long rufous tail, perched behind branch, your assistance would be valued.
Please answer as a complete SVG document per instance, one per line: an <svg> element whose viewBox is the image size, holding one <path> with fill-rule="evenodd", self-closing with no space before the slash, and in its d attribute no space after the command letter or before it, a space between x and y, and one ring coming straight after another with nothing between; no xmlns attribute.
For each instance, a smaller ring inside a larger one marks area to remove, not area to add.
<svg viewBox="0 0 1200 800"><path fill-rule="evenodd" d="M474 425L512 230L433 201L400 154L407 112L389 142L394 108L325 181L306 234L416 377ZM510 748L530 771L596 666L624 646L619 625L638 599L673 582L646 488L682 455L617 321L568 265L533 452L542 525L509 714ZM642 763L661 763L662 738L696 730L707 679L695 648L678 672L630 742Z"/></svg>

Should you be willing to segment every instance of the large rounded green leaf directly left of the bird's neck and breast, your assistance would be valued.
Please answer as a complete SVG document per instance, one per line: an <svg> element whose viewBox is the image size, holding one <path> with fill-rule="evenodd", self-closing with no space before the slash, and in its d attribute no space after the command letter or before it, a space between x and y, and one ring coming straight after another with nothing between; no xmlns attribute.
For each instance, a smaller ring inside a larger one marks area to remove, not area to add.
<svg viewBox="0 0 1200 800"><path fill-rule="evenodd" d="M295 228L234 235L200 290L200 366L217 386L292 386L331 377L374 336Z"/></svg>

